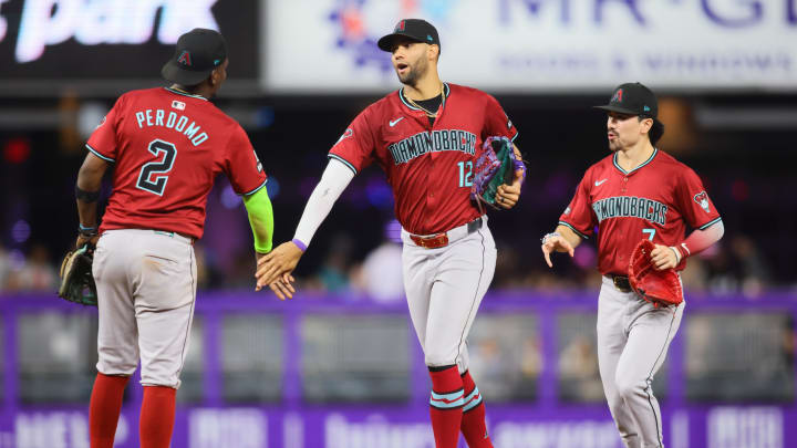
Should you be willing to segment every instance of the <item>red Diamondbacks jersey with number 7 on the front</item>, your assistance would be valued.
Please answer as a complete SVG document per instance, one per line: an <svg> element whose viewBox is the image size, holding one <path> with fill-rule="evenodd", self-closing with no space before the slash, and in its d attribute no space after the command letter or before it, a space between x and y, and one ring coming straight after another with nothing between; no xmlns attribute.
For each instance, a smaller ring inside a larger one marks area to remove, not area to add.
<svg viewBox="0 0 797 448"><path fill-rule="evenodd" d="M721 220L697 175L659 149L642 165L625 171L617 154L592 165L559 223L587 238L598 227L598 269L602 274L628 273L636 243L679 246L686 228L705 229ZM685 267L685 259L676 268Z"/></svg>

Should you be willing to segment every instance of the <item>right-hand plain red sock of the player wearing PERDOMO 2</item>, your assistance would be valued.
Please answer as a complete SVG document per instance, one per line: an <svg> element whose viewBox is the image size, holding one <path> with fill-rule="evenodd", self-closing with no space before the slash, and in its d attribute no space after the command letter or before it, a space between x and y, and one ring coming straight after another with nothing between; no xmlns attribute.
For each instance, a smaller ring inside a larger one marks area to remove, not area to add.
<svg viewBox="0 0 797 448"><path fill-rule="evenodd" d="M138 436L141 448L168 448L174 429L175 395L177 389L165 386L144 386Z"/></svg>

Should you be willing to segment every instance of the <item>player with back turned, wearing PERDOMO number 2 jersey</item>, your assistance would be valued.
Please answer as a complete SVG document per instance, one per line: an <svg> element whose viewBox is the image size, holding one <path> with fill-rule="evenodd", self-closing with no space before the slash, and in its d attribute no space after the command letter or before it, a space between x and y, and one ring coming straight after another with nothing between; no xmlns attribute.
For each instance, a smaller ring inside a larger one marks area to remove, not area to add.
<svg viewBox="0 0 797 448"><path fill-rule="evenodd" d="M196 260L214 178L244 197L258 257L271 249L266 174L244 129L208 100L227 77L227 45L195 29L164 65L170 87L128 92L89 138L75 188L77 244L96 242L97 376L89 411L91 447L111 448L122 396L141 358L142 447L166 448L188 352ZM97 229L96 200L113 165L113 192Z"/></svg>

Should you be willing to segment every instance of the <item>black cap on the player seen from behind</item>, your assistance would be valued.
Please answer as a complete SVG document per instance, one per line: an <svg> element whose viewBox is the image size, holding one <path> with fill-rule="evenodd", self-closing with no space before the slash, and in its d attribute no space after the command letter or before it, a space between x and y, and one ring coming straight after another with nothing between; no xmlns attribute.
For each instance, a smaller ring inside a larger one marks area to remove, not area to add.
<svg viewBox="0 0 797 448"><path fill-rule="evenodd" d="M215 30L195 28L179 37L175 54L161 69L161 75L177 84L197 85L226 59L224 37Z"/></svg>

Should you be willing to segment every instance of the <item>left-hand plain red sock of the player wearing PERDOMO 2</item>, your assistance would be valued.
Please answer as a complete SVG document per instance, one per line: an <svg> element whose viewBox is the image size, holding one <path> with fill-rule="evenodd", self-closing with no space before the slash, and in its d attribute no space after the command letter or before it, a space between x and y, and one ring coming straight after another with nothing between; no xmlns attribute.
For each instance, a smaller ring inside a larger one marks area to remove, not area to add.
<svg viewBox="0 0 797 448"><path fill-rule="evenodd" d="M122 411L122 397L130 376L110 376L97 373L89 404L89 434L91 448L111 448L116 424Z"/></svg>

